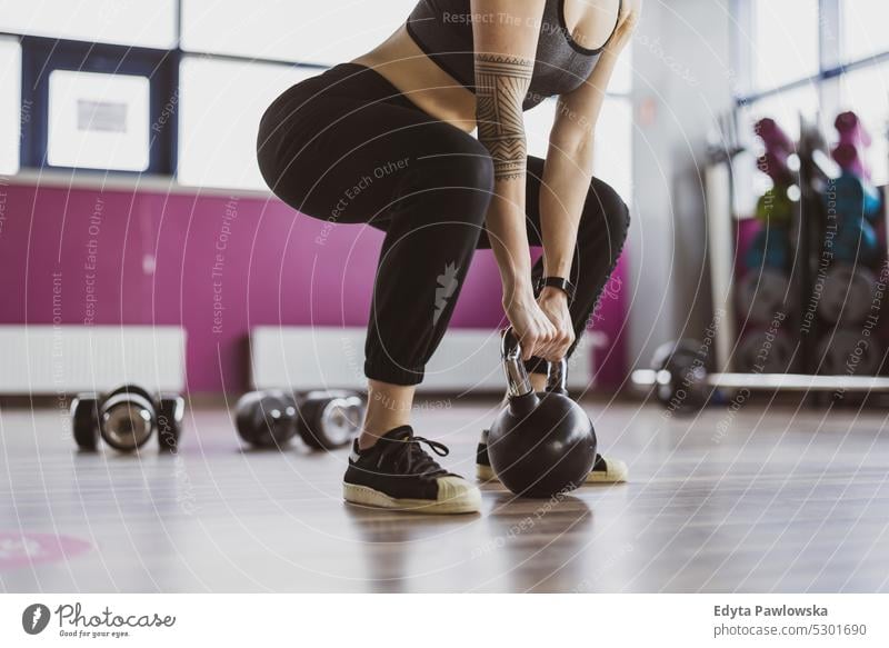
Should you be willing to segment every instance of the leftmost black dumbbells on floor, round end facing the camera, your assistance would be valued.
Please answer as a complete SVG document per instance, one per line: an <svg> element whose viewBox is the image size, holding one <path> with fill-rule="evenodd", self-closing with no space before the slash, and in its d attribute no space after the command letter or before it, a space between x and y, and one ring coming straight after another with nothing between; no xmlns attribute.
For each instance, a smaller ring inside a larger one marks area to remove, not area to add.
<svg viewBox="0 0 889 648"><path fill-rule="evenodd" d="M107 395L79 393L71 402L72 432L82 450L96 450L99 438L121 452L144 446L154 430L161 450L176 452L184 415L178 393L153 397L136 385Z"/></svg>

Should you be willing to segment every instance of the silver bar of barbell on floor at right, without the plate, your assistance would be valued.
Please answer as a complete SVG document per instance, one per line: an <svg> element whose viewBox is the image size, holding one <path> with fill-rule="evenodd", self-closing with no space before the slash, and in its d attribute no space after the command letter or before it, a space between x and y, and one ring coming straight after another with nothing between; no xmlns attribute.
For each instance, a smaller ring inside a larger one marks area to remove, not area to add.
<svg viewBox="0 0 889 648"><path fill-rule="evenodd" d="M670 382L669 371L637 369L630 380L640 387ZM723 389L788 391L889 391L889 378L875 376L809 376L807 373L708 373L707 385Z"/></svg>

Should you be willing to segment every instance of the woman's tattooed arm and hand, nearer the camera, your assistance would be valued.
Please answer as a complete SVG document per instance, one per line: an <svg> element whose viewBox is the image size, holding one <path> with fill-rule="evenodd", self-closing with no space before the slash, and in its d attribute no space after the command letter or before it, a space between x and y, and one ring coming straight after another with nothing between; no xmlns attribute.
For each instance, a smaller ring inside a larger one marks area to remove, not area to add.
<svg viewBox="0 0 889 648"><path fill-rule="evenodd" d="M503 283L503 308L526 358L548 358L555 328L531 286L525 225L527 144L522 103L531 84L546 0L471 0L476 121L493 161L486 227Z"/></svg>

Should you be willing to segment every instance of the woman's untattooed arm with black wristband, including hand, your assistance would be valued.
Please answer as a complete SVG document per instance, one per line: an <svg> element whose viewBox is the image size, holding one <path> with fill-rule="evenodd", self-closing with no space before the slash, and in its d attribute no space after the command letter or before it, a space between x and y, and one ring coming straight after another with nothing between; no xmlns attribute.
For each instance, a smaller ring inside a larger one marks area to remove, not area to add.
<svg viewBox="0 0 889 648"><path fill-rule="evenodd" d="M625 0L615 34L587 81L559 99L540 188L543 273L568 278L578 223L592 180L595 128L620 52L636 28L640 0ZM575 340L565 293L545 288L540 305L558 330L560 351Z"/></svg>

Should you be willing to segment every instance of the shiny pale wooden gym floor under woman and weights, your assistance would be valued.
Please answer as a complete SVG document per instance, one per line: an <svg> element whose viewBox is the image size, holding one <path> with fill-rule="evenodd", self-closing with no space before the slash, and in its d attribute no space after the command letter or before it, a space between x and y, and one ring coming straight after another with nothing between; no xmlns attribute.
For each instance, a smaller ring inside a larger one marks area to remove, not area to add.
<svg viewBox="0 0 889 648"><path fill-rule="evenodd" d="M439 406L441 403L438 403ZM473 473L495 403L421 408ZM0 416L2 591L889 591L889 431L855 409L670 419L588 406L631 482L478 516L344 505L347 453L243 450L223 408L182 451L80 455L52 408Z"/></svg>

